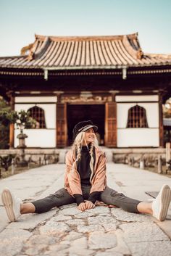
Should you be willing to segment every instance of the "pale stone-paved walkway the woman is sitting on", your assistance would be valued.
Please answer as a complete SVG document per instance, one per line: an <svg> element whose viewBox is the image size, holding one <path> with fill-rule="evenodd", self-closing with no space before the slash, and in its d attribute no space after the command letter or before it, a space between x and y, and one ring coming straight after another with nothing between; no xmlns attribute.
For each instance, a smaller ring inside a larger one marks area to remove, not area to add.
<svg viewBox="0 0 171 256"><path fill-rule="evenodd" d="M145 191L159 191L171 179L128 165L107 164L108 185L128 197L149 200ZM47 165L0 181L30 202L60 189L64 165ZM0 202L1 204L1 202ZM0 207L0 252L3 256L168 256L171 252L171 205L167 220L97 206L80 212L75 204L43 214L22 215L8 223Z"/></svg>

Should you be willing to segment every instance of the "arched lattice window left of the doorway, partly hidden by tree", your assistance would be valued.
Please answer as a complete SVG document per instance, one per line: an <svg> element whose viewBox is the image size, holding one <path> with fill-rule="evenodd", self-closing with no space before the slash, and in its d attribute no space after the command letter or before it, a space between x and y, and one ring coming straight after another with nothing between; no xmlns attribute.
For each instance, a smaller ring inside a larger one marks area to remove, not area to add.
<svg viewBox="0 0 171 256"><path fill-rule="evenodd" d="M36 126L33 128L46 128L45 115L44 110L41 107L34 106L31 107L28 112L30 113L30 117L36 120Z"/></svg>

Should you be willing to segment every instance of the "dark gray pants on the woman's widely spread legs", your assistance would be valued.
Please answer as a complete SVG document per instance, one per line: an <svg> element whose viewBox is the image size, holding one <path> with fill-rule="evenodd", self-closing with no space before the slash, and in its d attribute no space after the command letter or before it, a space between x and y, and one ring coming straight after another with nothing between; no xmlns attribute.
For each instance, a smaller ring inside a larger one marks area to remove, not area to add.
<svg viewBox="0 0 171 256"><path fill-rule="evenodd" d="M82 186L83 198L88 199L91 186ZM107 205L115 205L121 207L127 212L138 213L137 205L140 201L126 197L122 193L110 189L108 186L101 192L99 201L104 202ZM50 194L48 197L36 200L33 205L36 207L37 213L47 212L53 207L59 207L62 205L69 205L75 202L75 198L72 197L67 190L59 189L54 194Z"/></svg>

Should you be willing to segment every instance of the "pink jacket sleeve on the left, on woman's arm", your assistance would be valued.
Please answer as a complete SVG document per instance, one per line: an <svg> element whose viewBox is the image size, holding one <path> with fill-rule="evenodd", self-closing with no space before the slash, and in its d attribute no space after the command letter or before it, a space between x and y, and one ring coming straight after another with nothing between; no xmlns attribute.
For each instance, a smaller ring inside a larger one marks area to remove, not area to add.
<svg viewBox="0 0 171 256"><path fill-rule="evenodd" d="M72 157L72 152L67 152L66 155L66 173L65 173L65 181L67 180L68 185L70 186L70 191L73 194L83 194L82 193L82 189L81 189L81 185L80 185L80 175L78 173L78 171L76 170L76 168L74 168L72 170L72 165L74 162L74 159ZM66 185L66 184L65 184Z"/></svg>

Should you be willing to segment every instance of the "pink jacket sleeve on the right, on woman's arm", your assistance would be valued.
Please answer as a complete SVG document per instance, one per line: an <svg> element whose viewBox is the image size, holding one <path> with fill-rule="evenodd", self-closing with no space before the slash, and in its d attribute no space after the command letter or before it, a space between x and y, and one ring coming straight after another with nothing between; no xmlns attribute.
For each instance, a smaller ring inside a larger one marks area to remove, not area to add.
<svg viewBox="0 0 171 256"><path fill-rule="evenodd" d="M97 163L97 169L93 176L90 194L95 191L104 191L105 186L107 184L106 162L107 161L105 154L101 154Z"/></svg>

